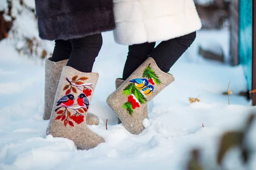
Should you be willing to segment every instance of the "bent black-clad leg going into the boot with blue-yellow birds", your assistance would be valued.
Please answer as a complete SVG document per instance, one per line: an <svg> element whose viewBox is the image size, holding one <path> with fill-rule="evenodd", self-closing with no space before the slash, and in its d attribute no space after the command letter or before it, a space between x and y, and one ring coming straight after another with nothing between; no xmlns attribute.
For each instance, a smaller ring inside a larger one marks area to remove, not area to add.
<svg viewBox="0 0 256 170"><path fill-rule="evenodd" d="M177 37L168 41L163 41L152 51L152 57L157 66L164 72L168 72L172 65L180 58L180 56L190 47L194 42L196 32Z"/></svg>

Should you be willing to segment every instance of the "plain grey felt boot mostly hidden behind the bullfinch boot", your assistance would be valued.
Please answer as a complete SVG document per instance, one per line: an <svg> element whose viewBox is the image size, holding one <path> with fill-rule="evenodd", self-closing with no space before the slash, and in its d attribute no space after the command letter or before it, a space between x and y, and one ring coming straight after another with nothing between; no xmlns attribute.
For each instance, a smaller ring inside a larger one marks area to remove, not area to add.
<svg viewBox="0 0 256 170"><path fill-rule="evenodd" d="M52 62L51 58L45 61L44 120L50 119L61 71L67 61L68 59ZM86 122L87 125L99 125L99 118L93 113L88 113Z"/></svg>

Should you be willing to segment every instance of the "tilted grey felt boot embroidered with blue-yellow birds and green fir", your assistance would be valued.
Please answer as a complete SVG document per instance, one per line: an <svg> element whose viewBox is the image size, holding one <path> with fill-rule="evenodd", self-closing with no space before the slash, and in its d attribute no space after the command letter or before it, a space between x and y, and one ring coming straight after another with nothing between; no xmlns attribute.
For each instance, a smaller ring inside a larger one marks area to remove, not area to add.
<svg viewBox="0 0 256 170"><path fill-rule="evenodd" d="M144 129L145 105L173 81L174 77L161 71L149 57L108 96L107 103L129 132L139 134Z"/></svg>

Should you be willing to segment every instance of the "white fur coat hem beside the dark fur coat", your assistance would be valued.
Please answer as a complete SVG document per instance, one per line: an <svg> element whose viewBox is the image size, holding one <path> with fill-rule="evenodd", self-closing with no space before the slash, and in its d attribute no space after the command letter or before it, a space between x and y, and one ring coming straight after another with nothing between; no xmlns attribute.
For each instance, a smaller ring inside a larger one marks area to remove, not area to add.
<svg viewBox="0 0 256 170"><path fill-rule="evenodd" d="M194 0L113 0L115 41L122 45L170 40L201 28Z"/></svg>

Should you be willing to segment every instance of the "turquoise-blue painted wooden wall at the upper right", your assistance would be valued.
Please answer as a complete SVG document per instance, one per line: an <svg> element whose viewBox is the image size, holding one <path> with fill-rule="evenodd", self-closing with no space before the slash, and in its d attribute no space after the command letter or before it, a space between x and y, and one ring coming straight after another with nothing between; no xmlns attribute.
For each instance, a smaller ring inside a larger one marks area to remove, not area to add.
<svg viewBox="0 0 256 170"><path fill-rule="evenodd" d="M239 1L239 60L249 91L252 90L253 0Z"/></svg>

